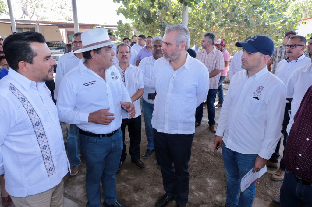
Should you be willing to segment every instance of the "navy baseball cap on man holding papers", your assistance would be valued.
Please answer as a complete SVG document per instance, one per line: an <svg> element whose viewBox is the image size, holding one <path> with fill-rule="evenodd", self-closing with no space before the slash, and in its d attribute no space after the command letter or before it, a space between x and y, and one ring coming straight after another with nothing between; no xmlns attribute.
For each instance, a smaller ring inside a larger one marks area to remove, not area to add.
<svg viewBox="0 0 312 207"><path fill-rule="evenodd" d="M246 42L237 42L236 47L242 47L250 53L261 52L265 55L271 55L274 52L274 43L271 38L265 35L255 35L248 39Z"/></svg>

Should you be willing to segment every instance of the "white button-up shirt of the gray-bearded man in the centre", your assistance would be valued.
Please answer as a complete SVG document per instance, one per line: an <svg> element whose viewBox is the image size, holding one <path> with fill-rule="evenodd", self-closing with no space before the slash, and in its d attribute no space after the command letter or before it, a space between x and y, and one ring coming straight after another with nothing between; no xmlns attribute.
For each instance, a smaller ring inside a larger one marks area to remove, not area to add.
<svg viewBox="0 0 312 207"><path fill-rule="evenodd" d="M168 134L195 133L196 107L208 95L207 67L188 53L185 64L176 71L168 60L159 58L154 64L153 79L157 91L153 128Z"/></svg>

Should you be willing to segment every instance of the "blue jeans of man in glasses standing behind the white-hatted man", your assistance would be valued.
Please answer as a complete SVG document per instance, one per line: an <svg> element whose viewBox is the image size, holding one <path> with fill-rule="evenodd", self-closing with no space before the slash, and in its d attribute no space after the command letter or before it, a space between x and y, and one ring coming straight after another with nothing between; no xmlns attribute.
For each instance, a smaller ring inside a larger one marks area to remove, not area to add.
<svg viewBox="0 0 312 207"><path fill-rule="evenodd" d="M66 127L66 139L71 166L79 166L81 160L79 158L78 127L76 124L71 124L69 130Z"/></svg>

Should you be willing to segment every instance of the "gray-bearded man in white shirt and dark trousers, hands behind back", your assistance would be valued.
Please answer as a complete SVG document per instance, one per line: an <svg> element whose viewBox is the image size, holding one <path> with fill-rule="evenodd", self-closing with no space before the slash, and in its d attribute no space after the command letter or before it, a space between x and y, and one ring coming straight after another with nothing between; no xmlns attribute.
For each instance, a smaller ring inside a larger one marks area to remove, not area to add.
<svg viewBox="0 0 312 207"><path fill-rule="evenodd" d="M157 95L152 127L157 163L166 193L155 206L176 200L179 207L188 202L194 113L207 97L209 75L202 62L192 58L187 49L190 33L184 25L170 25L163 36L163 58L154 64L153 80ZM220 52L221 53L221 52Z"/></svg>

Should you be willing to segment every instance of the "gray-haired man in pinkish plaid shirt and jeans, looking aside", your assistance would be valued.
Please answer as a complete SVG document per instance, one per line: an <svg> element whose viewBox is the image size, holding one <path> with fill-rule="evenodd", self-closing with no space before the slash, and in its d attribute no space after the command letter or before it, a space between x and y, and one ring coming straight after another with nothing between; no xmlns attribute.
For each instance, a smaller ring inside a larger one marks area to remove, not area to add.
<svg viewBox="0 0 312 207"><path fill-rule="evenodd" d="M197 53L196 59L200 60L209 71L209 92L207 95L207 109L208 109L208 124L212 132L216 132L215 127L215 101L221 71L224 71L224 59L222 52L215 46L216 35L212 32L207 32L202 36L202 50ZM195 127L201 125L203 115L203 104L196 108Z"/></svg>

